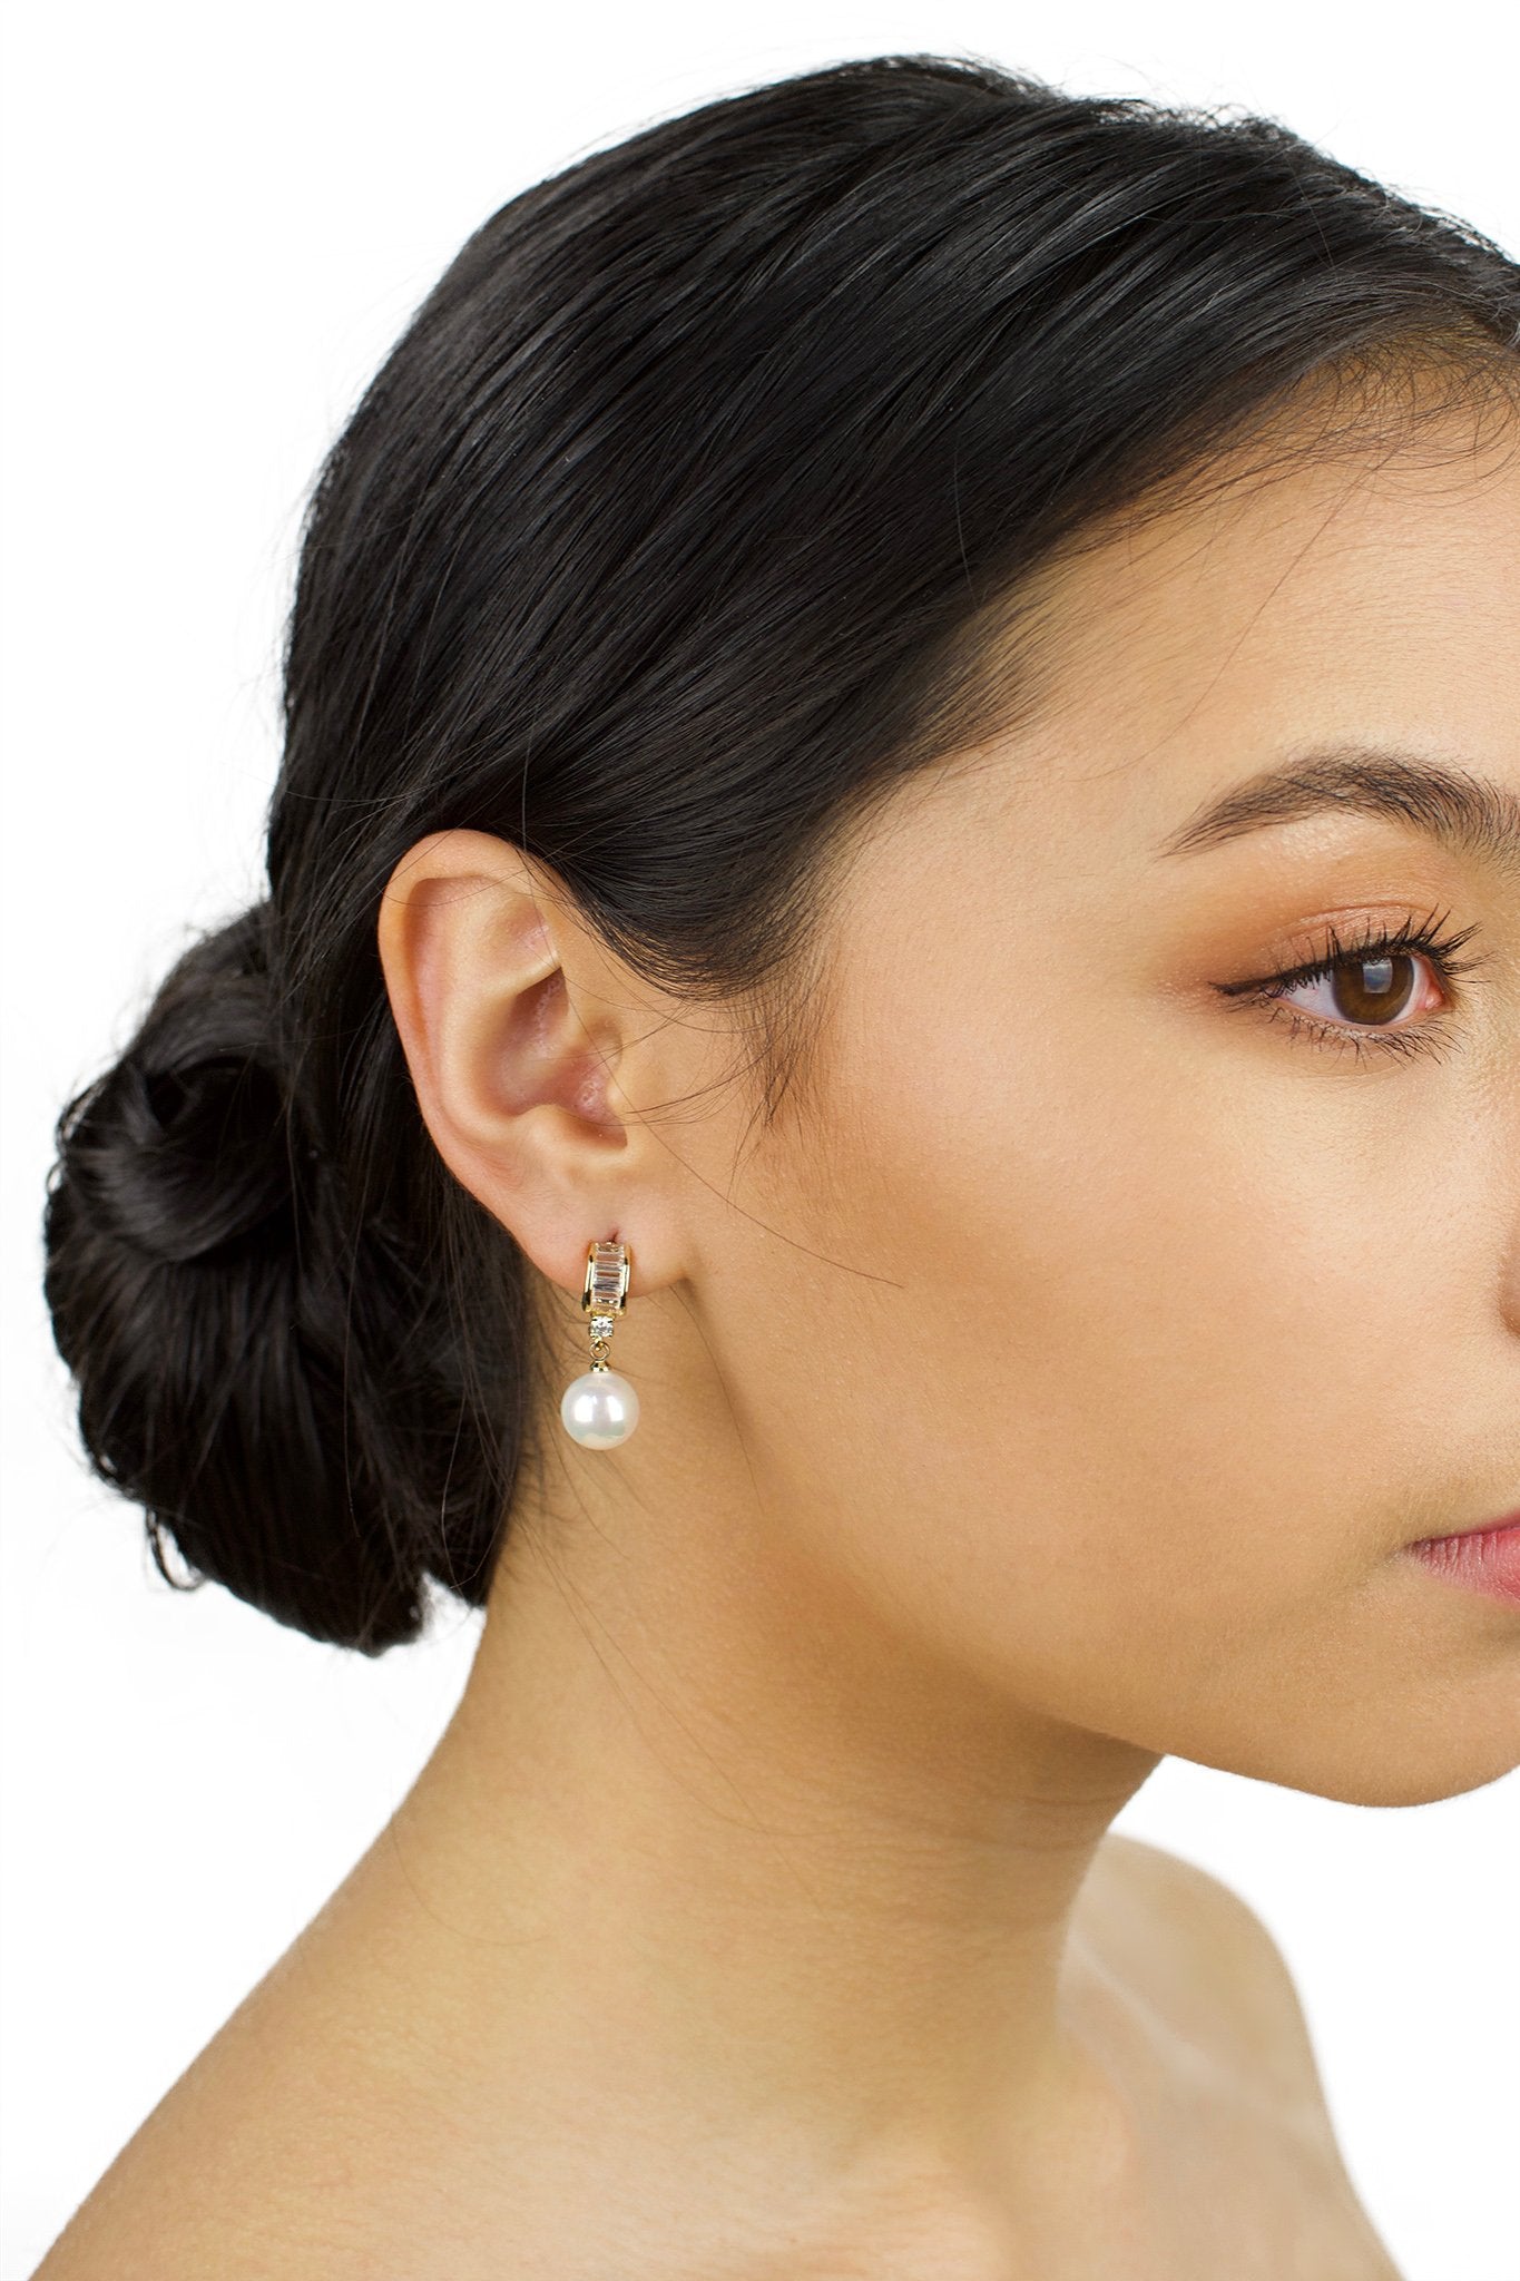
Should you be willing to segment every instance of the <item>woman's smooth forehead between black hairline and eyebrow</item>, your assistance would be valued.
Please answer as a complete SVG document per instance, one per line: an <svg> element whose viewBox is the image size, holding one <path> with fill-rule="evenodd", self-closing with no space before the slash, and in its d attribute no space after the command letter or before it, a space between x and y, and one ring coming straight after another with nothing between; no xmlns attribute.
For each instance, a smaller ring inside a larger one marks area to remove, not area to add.
<svg viewBox="0 0 1520 2281"><path fill-rule="evenodd" d="M1092 814L1108 787L1114 821L1164 833L1283 750L1354 739L1520 785L1520 417L1208 472L1041 573L1041 709L1003 748L1023 812Z"/></svg>

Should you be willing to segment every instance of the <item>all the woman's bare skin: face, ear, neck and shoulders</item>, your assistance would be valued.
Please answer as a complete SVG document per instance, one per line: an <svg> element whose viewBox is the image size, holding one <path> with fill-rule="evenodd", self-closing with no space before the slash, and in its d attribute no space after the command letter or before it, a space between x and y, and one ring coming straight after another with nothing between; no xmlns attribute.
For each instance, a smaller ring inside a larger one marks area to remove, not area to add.
<svg viewBox="0 0 1520 2281"><path fill-rule="evenodd" d="M410 851L428 1129L558 1385L629 1243L640 1426L549 1410L438 1752L46 2281L1395 2274L1265 1927L1110 1825L1169 1752L1520 1761L1515 1610L1406 1551L1520 1505L1520 864L1351 807L1155 853L1351 737L1520 801L1520 454L1458 431L1064 566L1048 714L852 851L770 1131L540 864ZM1221 995L1431 910L1486 958L1413 958L1440 1054Z"/></svg>

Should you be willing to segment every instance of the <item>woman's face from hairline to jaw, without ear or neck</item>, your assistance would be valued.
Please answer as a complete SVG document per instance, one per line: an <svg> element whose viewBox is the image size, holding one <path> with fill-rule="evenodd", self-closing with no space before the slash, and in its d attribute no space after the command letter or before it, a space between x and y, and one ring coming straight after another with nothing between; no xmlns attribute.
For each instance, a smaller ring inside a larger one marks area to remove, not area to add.
<svg viewBox="0 0 1520 2281"><path fill-rule="evenodd" d="M852 858L820 1122L672 1136L716 1505L937 1670L1363 1802L1520 1759L1520 1608L1406 1551L1520 1508L1520 454L1449 443L1076 557L1041 723ZM1511 837L1342 796L1167 851L1349 746ZM1274 983L1424 922L1472 972Z"/></svg>

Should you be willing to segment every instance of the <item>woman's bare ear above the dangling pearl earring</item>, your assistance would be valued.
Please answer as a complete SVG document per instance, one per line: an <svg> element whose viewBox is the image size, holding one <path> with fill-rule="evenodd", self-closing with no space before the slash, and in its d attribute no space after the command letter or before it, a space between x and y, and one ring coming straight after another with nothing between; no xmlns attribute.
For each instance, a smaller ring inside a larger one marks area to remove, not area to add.
<svg viewBox="0 0 1520 2281"><path fill-rule="evenodd" d="M533 1266L579 1298L586 1248L622 1241L640 1291L681 1277L684 1166L624 1088L679 1097L684 1031L554 874L492 833L431 833L385 885L378 949L433 1143Z"/></svg>

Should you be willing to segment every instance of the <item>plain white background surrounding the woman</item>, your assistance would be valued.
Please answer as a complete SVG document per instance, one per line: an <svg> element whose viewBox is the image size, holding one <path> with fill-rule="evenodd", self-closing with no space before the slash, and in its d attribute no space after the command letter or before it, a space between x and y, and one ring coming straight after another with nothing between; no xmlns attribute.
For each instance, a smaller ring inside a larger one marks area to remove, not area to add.
<svg viewBox="0 0 1520 2281"><path fill-rule="evenodd" d="M0 2281L32 2272L367 1848L479 1631L451 1601L369 1663L219 1588L171 1594L139 1512L75 1451L39 1286L52 1118L191 931L262 892L305 486L415 303L574 155L893 48L1262 109L1515 253L1506 21L1445 7L1399 32L1367 7L1180 0L11 9ZM1408 2281L1520 2281L1520 1775L1356 1809L1167 1761L1119 1827L1272 1925Z"/></svg>

